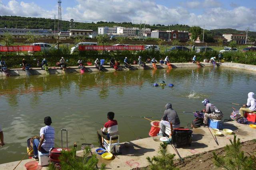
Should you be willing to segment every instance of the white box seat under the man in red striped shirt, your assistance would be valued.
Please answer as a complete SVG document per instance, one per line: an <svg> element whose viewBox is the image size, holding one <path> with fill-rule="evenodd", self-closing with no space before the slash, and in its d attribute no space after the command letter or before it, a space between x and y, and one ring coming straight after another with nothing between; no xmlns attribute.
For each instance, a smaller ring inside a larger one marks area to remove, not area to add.
<svg viewBox="0 0 256 170"><path fill-rule="evenodd" d="M117 137L117 142L112 143L112 142L116 141L116 139L114 139L116 137ZM112 140L112 139L114 139L114 140ZM110 153L119 153L119 148L120 148L119 133L117 132L117 133L110 134L109 141L103 138L103 146Z"/></svg>

